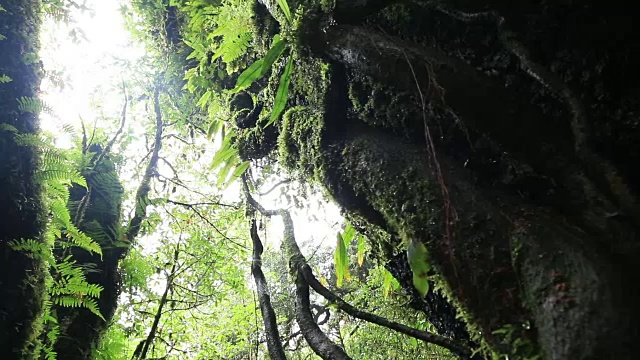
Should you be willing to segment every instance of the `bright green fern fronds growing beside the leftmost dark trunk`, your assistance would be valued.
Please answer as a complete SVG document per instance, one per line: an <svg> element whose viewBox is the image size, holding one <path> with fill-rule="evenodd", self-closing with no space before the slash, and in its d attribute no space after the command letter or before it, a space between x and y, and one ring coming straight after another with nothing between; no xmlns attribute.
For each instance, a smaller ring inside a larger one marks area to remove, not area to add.
<svg viewBox="0 0 640 360"><path fill-rule="evenodd" d="M26 106L37 102L25 102ZM9 129L11 131L11 129ZM68 129L67 129L68 130ZM42 166L35 179L43 187L45 203L49 210L44 238L45 243L34 239L14 240L11 247L15 251L24 252L27 256L42 259L49 265L50 274L47 280L47 298L45 299L45 314L42 318L43 326L47 330L46 338L38 345L38 350L46 359L55 359L53 346L57 340L59 327L53 305L64 307L85 308L103 318L96 299L103 290L101 286L87 282L85 269L75 264L71 255L58 259L53 254L55 247L67 249L71 246L97 254L102 249L96 241L80 231L71 219L67 207L69 188L73 185L86 187L85 178L75 168L70 160L70 154L56 149L50 137L31 134L16 134L17 142L21 145L37 147L42 153Z"/></svg>

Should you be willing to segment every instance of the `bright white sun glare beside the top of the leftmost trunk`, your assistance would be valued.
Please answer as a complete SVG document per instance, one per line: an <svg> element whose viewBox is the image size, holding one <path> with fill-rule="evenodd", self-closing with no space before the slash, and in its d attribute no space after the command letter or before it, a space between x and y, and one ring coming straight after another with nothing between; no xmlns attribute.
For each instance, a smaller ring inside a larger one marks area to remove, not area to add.
<svg viewBox="0 0 640 360"><path fill-rule="evenodd" d="M122 107L120 83L126 69L144 48L131 40L120 14L121 1L88 1L89 11L76 11L69 23L45 17L41 59L45 76L41 97L53 112L43 114L42 128L58 133L61 124L80 128L104 117L117 117ZM59 137L58 145L69 147Z"/></svg>

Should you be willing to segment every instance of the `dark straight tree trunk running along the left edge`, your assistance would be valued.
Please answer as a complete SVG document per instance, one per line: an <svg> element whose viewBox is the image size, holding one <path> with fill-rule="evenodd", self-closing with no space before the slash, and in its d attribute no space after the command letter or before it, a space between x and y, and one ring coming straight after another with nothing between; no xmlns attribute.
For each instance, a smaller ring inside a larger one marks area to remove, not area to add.
<svg viewBox="0 0 640 360"><path fill-rule="evenodd" d="M44 275L41 260L12 250L20 239L42 241L44 217L34 180L37 152L15 134L38 131L37 116L18 108L40 85L37 61L40 2L3 1L0 10L0 358L29 358L38 335Z"/></svg>

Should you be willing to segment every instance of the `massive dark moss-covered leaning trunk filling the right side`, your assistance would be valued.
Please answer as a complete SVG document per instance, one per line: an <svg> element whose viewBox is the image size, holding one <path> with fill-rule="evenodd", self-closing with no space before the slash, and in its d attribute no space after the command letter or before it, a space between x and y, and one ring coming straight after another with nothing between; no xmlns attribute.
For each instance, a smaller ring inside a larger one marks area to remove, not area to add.
<svg viewBox="0 0 640 360"><path fill-rule="evenodd" d="M290 5L306 17L281 162L323 183L379 256L425 243L472 336L494 350L633 358L640 32L625 9ZM273 29L278 7L255 9ZM245 158L275 146L256 135L240 131Z"/></svg>

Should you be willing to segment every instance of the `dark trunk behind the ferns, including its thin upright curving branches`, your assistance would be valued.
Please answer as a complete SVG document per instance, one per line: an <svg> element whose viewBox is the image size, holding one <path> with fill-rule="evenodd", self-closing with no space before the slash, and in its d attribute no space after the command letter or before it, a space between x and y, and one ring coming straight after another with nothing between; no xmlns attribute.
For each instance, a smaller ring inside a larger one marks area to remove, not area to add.
<svg viewBox="0 0 640 360"><path fill-rule="evenodd" d="M157 79L159 80L159 79ZM57 307L63 336L55 345L59 356L70 360L89 360L101 336L112 320L118 306L121 291L119 262L131 248L140 234L143 222L147 218L151 181L157 171L162 149L164 130L160 108L160 85L157 84L153 95L155 115L155 140L153 150L135 195L134 214L126 227L121 226L121 210L124 189L118 179L115 165L109 152L118 140L126 120L128 102L125 100L120 130L103 149L99 145L90 145L89 151L95 156L89 169L83 170L88 190L75 187L71 190L69 210L76 214L74 219L80 230L100 244L102 256L89 254L78 249L73 252L78 264L90 267L87 281L103 287L98 307L104 320L84 308ZM126 96L125 96L126 99ZM86 149L83 149L85 151ZM92 269L91 267L95 267ZM106 320L106 321L105 321ZM151 340L149 340L151 341Z"/></svg>

